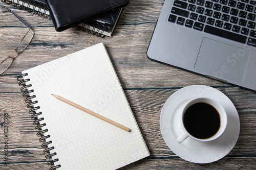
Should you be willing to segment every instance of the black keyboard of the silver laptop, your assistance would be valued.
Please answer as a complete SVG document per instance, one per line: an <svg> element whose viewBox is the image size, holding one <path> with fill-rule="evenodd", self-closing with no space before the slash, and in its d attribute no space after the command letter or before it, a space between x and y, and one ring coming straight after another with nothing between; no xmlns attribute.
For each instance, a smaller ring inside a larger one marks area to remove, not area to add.
<svg viewBox="0 0 256 170"><path fill-rule="evenodd" d="M168 21L256 47L256 1L174 0Z"/></svg>

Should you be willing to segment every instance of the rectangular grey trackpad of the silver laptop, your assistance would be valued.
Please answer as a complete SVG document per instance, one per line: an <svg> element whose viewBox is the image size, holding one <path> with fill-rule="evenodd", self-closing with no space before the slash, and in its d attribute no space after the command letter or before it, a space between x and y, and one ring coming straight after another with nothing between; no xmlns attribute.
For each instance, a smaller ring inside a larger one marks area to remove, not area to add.
<svg viewBox="0 0 256 170"><path fill-rule="evenodd" d="M205 75L243 82L250 51L208 38L203 38L195 69Z"/></svg>

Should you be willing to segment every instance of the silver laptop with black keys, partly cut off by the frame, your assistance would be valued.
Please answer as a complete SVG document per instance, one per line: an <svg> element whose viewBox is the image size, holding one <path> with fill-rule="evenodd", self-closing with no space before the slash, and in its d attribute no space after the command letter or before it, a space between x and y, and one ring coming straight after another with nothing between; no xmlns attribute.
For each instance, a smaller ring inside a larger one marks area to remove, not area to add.
<svg viewBox="0 0 256 170"><path fill-rule="evenodd" d="M165 0L147 57L256 90L256 0Z"/></svg>

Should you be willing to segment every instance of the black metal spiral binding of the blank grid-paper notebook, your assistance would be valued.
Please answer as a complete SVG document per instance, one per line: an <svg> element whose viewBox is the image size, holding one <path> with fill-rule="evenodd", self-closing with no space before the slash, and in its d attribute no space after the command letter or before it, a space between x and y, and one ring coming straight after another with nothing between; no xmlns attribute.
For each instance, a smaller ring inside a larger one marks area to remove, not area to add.
<svg viewBox="0 0 256 170"><path fill-rule="evenodd" d="M27 107L29 108L29 113L32 114L31 119L34 120L33 124L36 126L35 129L38 130L39 132L36 134L39 138L40 142L43 142L41 144L41 147L44 148L44 153L48 154L45 157L47 159L51 159L50 161L48 161L48 165L51 165L52 167L50 168L50 170L54 170L57 169L58 167L60 167L60 165L55 165L54 166L54 162L57 162L58 159L52 159L52 156L56 155L56 152L54 153L50 153L51 150L54 150L54 147L49 148L48 144L52 143L52 141L46 141L47 138L50 138L50 135L45 136L44 133L48 132L48 129L42 130L42 127L46 126L46 124L40 124L40 121L44 120L44 118L38 118L37 116L42 114L41 112L36 112L37 109L39 109L40 107L34 107L34 104L38 103L37 101L32 101L32 99L36 98L35 95L30 95L31 92L33 92L34 90L28 90L28 87L32 87L31 84L26 84L26 82L29 82L30 79L24 79L24 76L28 76L28 74L22 74L20 76L17 77L17 80L19 81L19 86L22 86L20 88L20 90L23 92L23 96L25 98L25 102L27 103Z"/></svg>

